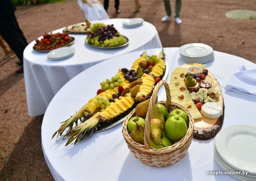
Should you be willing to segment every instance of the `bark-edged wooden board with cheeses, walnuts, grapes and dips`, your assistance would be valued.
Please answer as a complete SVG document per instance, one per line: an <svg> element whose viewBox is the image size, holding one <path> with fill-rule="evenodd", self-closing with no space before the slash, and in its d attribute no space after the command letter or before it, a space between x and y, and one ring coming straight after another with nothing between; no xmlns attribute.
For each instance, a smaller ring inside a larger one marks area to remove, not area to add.
<svg viewBox="0 0 256 181"><path fill-rule="evenodd" d="M190 74L190 67L200 68L200 71ZM215 137L224 120L224 100L219 83L206 65L186 63L176 67L169 87L172 101L188 108L193 116L194 139L209 140Z"/></svg>

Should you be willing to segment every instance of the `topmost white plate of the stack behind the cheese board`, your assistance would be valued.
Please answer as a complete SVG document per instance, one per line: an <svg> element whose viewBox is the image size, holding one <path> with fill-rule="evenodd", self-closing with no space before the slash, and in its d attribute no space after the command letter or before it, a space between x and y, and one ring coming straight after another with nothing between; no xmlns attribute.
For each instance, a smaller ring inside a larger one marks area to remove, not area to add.
<svg viewBox="0 0 256 181"><path fill-rule="evenodd" d="M192 43L182 45L179 48L179 53L187 57L205 57L212 54L213 49L211 46L202 43Z"/></svg>

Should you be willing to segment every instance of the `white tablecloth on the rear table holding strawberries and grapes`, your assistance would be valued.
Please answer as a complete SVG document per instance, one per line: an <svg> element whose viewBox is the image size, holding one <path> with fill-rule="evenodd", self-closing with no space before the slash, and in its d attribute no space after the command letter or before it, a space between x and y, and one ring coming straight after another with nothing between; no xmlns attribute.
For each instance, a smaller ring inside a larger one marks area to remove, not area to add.
<svg viewBox="0 0 256 181"><path fill-rule="evenodd" d="M38 116L44 114L58 90L71 78L92 65L124 53L162 47L158 32L153 24L144 21L142 26L125 28L123 27L123 21L125 20L104 19L91 22L114 24L114 27L129 39L128 46L118 49L94 48L85 44L87 35L70 34L75 38L74 44L70 45L75 48L75 54L62 60L49 60L47 53L33 50L32 47L35 41L31 42L23 54L28 115ZM53 33L62 31L63 28L60 28L53 31ZM111 67L107 68L111 69ZM94 72L91 77L85 77L85 80L94 76L97 76L97 72ZM74 88L79 89L79 87L80 84Z"/></svg>

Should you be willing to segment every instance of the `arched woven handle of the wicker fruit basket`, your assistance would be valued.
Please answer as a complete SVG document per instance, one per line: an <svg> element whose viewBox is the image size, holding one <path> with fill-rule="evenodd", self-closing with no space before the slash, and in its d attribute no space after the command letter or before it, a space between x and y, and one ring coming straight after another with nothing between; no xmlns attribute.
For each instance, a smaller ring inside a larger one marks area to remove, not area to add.
<svg viewBox="0 0 256 181"><path fill-rule="evenodd" d="M145 122L145 131L144 131L144 148L149 149L149 140L150 140L150 121L153 113L153 107L155 105L156 99L157 99L157 94L160 89L160 87L164 85L164 89L166 92L166 102L165 102L165 107L167 107L167 110L169 111L170 104L171 103L171 93L170 93L170 88L168 83L165 80L160 80L154 87L153 93L150 97L149 101L149 109L147 110L146 114L146 122Z"/></svg>

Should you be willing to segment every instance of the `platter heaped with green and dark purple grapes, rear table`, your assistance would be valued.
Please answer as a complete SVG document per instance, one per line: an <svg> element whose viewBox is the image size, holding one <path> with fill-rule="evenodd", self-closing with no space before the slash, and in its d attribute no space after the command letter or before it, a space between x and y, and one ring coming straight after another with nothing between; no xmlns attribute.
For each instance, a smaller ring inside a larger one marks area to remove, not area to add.
<svg viewBox="0 0 256 181"><path fill-rule="evenodd" d="M128 45L129 40L113 24L95 23L88 31L85 43L96 48L113 49Z"/></svg>

